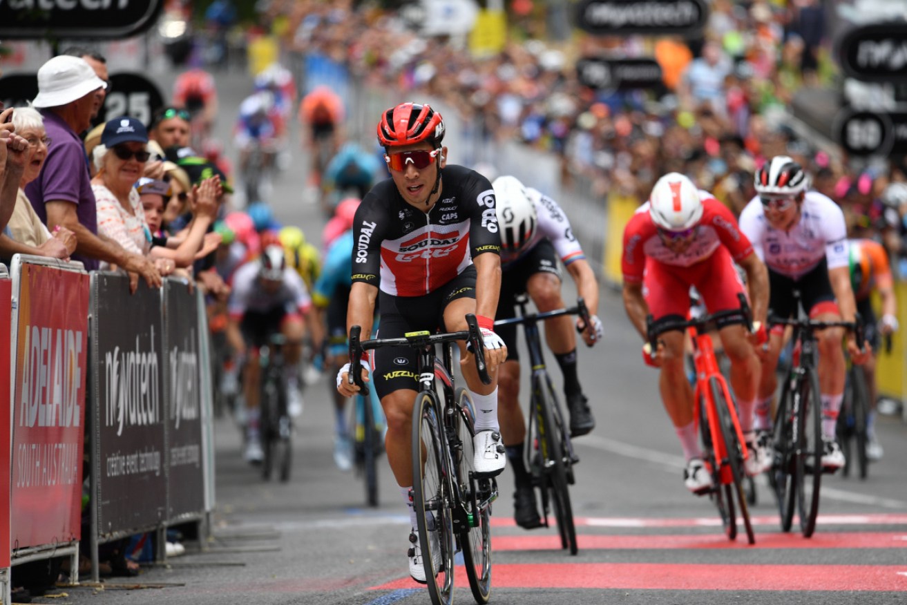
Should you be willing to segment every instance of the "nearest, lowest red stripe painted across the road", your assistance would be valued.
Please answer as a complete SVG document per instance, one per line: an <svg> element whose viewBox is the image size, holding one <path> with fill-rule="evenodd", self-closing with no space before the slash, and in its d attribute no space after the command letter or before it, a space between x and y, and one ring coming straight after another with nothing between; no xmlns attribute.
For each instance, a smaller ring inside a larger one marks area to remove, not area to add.
<svg viewBox="0 0 907 605"><path fill-rule="evenodd" d="M581 544L580 544L581 547ZM468 589L465 570L456 586ZM418 586L410 578L373 590ZM907 565L495 564L493 587L637 590L907 590Z"/></svg>

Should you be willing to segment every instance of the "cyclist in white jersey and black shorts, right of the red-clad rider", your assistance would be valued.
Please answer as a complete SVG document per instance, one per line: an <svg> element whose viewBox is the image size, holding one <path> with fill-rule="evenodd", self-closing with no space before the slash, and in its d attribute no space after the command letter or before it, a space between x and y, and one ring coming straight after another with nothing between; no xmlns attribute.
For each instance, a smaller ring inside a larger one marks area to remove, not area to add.
<svg viewBox="0 0 907 605"><path fill-rule="evenodd" d="M787 156L775 156L756 171L757 196L740 214L740 230L766 263L770 288L769 307L780 317L795 316L793 291L800 290L803 307L820 321L853 321L856 302L850 281L847 229L844 212L818 191L808 190L805 171ZM772 329L764 351L756 429L767 444L772 420L769 406L775 395L775 367L783 346L783 327ZM844 453L834 440L841 400L844 397L844 328L818 333L819 390L822 398L823 466L836 471L844 466ZM847 335L847 350L854 363L868 355Z"/></svg>

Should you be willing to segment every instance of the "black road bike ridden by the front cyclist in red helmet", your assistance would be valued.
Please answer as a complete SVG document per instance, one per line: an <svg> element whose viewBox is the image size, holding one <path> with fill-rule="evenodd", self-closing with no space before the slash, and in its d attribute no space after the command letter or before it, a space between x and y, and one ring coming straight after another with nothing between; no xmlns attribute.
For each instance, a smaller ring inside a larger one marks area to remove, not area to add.
<svg viewBox="0 0 907 605"><path fill-rule="evenodd" d="M483 355L483 338L472 314L469 329L445 334L409 332L403 338L360 340L362 329L350 328L349 355L352 380L367 394L360 359L363 351L384 346L410 346L419 352L419 390L413 411L413 506L425 580L434 605L453 602L454 555L463 552L463 563L473 597L487 603L492 585L492 503L498 497L495 479L473 469L473 401L463 388L453 385L453 342L466 340L484 384L491 384ZM443 345L443 361L435 345ZM439 393L441 399L439 400ZM432 556L432 534L440 546Z"/></svg>

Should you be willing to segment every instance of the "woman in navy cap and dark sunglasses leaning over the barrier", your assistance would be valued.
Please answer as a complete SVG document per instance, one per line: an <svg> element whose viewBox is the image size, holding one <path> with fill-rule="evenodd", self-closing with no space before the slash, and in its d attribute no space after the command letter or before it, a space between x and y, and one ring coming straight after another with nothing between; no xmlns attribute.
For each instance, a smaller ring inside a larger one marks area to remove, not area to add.
<svg viewBox="0 0 907 605"><path fill-rule="evenodd" d="M151 230L145 222L141 198L134 185L142 176L151 154L146 149L148 132L144 124L124 116L104 125L101 145L94 150L98 172L92 179L97 200L98 235L113 239L133 254L148 256ZM106 263L102 263L102 268ZM175 263L158 259L161 275L169 275Z"/></svg>

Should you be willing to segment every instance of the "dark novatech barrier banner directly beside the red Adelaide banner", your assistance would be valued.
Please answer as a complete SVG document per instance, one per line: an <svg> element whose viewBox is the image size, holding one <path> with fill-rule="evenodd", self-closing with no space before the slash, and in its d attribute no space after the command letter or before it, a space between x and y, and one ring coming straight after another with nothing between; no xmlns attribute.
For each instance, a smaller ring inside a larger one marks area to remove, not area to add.
<svg viewBox="0 0 907 605"><path fill-rule="evenodd" d="M92 312L97 531L149 527L167 508L161 290L93 273Z"/></svg>

